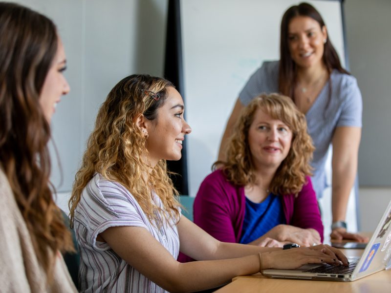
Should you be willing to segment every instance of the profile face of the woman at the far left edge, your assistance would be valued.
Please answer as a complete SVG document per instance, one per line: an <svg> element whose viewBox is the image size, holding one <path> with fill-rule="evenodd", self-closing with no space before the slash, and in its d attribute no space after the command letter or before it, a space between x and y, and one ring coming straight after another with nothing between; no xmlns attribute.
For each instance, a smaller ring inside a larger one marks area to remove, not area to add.
<svg viewBox="0 0 391 293"><path fill-rule="evenodd" d="M47 72L40 94L40 104L43 109L43 114L49 123L55 112L56 105L60 102L61 96L69 92L69 84L63 75L65 69L66 58L64 46L61 39L58 38L57 52Z"/></svg>

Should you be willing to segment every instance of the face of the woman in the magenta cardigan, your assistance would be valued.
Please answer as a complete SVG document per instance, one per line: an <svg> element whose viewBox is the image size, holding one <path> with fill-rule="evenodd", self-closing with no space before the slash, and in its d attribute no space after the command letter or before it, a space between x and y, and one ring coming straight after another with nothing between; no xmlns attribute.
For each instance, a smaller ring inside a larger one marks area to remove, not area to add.
<svg viewBox="0 0 391 293"><path fill-rule="evenodd" d="M248 130L248 144L256 169L271 167L277 170L288 155L291 142L292 131L287 125L261 108L255 112Z"/></svg>

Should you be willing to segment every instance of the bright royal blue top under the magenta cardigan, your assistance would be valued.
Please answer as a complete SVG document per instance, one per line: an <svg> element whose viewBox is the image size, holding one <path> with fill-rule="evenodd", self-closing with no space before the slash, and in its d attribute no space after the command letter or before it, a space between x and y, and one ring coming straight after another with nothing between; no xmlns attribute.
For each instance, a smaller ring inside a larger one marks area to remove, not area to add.
<svg viewBox="0 0 391 293"><path fill-rule="evenodd" d="M250 243L280 224L285 224L281 196L270 193L259 204L246 197L246 210L239 243Z"/></svg>

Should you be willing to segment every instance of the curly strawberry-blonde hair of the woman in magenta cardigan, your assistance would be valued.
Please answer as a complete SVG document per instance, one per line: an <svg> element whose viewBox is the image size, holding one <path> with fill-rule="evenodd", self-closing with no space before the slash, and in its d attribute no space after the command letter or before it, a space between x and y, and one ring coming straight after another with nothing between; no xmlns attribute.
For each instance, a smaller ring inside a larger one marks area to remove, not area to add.
<svg viewBox="0 0 391 293"><path fill-rule="evenodd" d="M236 185L245 186L256 182L248 133L255 113L260 108L273 119L281 120L292 131L288 155L278 167L269 190L274 194L297 194L303 188L305 176L311 175L309 162L315 148L307 133L304 114L290 98L281 94L261 94L243 108L227 147L227 161L217 161L213 167L222 165L228 181Z"/></svg>

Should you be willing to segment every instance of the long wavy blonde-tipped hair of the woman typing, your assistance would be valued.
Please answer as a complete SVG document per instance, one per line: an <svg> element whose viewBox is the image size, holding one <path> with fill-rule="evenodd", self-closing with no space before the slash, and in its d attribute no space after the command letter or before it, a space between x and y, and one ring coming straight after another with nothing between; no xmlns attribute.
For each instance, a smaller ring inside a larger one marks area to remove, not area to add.
<svg viewBox="0 0 391 293"><path fill-rule="evenodd" d="M179 203L175 199L178 192L168 176L166 161L160 160L151 169L147 138L136 125L140 114L148 120L156 119L157 110L165 103L167 88L170 86L174 87L163 78L130 75L109 92L99 109L82 166L75 176L69 200L71 225L82 191L95 172L126 187L152 224L154 220L161 225L159 219L179 220ZM156 93L159 100L154 100L144 90ZM160 197L164 209L158 208L151 201L152 190Z"/></svg>

